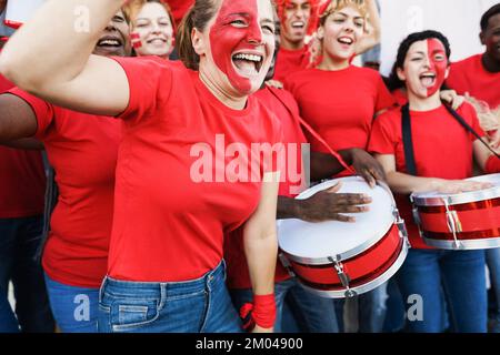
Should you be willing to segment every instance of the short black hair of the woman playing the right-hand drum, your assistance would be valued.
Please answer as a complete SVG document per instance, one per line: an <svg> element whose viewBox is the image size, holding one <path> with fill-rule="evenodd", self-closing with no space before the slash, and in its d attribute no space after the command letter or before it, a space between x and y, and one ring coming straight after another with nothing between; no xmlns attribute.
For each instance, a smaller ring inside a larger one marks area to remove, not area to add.
<svg viewBox="0 0 500 355"><path fill-rule="evenodd" d="M408 51L410 50L411 44L419 41L424 41L428 39L434 38L444 45L444 50L447 52L447 58L450 60L451 49L450 41L444 37L441 32L427 30L422 32L414 32L409 34L402 42L399 44L398 55L396 58L394 67L392 67L392 72L388 80L389 90L393 91L396 89L404 87L404 82L401 81L398 77L398 68L402 69L404 67L404 59L407 58Z"/></svg>

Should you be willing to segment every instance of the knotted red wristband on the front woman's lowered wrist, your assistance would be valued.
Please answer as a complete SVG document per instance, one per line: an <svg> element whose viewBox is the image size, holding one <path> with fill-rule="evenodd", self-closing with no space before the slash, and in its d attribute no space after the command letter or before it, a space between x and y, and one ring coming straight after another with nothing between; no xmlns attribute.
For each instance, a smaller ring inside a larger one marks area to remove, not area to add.
<svg viewBox="0 0 500 355"><path fill-rule="evenodd" d="M276 322L274 294L253 295L253 304L243 304L240 308L240 316L246 331L252 331L256 324L262 328L273 327Z"/></svg>

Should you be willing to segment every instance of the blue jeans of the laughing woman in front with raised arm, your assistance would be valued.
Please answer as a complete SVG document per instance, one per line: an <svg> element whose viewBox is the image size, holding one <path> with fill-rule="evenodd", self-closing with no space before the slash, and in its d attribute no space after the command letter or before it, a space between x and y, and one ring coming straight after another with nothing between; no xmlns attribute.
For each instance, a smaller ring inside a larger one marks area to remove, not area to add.
<svg viewBox="0 0 500 355"><path fill-rule="evenodd" d="M226 287L226 263L200 278L148 283L107 277L99 301L102 333L241 333Z"/></svg>

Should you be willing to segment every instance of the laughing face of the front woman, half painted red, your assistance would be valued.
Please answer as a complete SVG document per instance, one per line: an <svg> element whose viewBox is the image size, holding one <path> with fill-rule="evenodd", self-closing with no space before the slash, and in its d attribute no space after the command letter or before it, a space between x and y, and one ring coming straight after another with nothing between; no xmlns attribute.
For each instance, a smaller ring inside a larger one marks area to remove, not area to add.
<svg viewBox="0 0 500 355"><path fill-rule="evenodd" d="M213 61L240 93L258 90L274 52L274 24L268 0L223 0L210 29Z"/></svg>

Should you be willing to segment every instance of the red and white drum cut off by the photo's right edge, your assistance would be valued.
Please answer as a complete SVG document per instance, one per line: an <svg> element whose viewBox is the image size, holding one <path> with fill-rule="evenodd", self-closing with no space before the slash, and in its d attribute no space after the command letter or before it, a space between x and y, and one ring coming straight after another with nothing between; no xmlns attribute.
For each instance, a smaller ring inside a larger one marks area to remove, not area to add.
<svg viewBox="0 0 500 355"><path fill-rule="evenodd" d="M460 194L413 193L414 221L424 243L444 250L500 246L500 174L469 180L493 187Z"/></svg>

